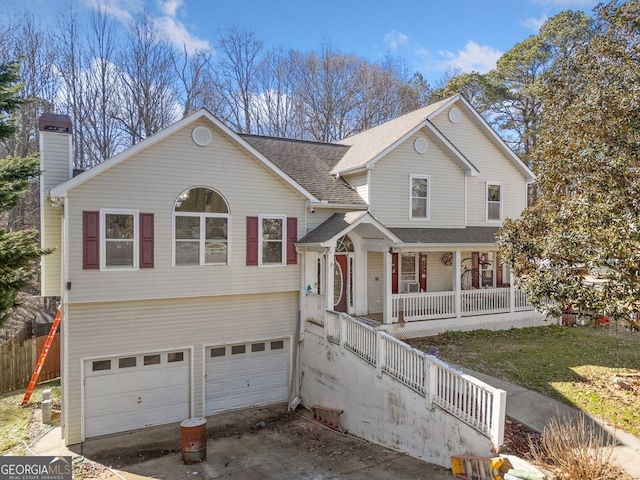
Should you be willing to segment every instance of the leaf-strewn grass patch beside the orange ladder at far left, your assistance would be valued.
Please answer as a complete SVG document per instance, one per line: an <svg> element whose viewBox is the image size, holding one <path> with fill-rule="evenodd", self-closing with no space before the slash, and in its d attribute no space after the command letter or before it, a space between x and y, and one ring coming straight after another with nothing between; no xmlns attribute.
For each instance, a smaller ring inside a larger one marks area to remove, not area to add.
<svg viewBox="0 0 640 480"><path fill-rule="evenodd" d="M59 380L36 386L31 400L24 407L20 404L24 398L25 389L0 394L0 455L5 455L9 451L13 454L24 451L19 447L23 445L22 442L29 443L29 422L33 410L42 402L42 390L45 388L51 389L51 398L54 403L60 400Z"/></svg>

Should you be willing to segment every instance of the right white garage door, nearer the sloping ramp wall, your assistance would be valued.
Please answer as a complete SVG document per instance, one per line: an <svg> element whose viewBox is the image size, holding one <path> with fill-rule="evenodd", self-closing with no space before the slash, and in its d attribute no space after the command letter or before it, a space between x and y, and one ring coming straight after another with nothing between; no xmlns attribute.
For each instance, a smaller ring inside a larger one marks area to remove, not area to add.
<svg viewBox="0 0 640 480"><path fill-rule="evenodd" d="M268 340L206 349L206 414L287 401L289 342Z"/></svg>

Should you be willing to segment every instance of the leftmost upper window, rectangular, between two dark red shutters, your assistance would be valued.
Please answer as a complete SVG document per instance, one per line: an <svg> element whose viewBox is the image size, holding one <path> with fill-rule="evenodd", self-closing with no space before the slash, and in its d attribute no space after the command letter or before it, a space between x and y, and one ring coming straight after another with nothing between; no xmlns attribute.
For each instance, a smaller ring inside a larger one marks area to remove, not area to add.
<svg viewBox="0 0 640 480"><path fill-rule="evenodd" d="M137 268L138 215L130 210L102 210L103 268Z"/></svg>

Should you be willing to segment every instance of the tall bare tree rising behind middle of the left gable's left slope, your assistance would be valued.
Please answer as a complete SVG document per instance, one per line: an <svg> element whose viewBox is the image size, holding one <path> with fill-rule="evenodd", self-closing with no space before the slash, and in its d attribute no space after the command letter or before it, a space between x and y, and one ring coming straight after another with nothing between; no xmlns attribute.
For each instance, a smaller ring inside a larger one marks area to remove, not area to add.
<svg viewBox="0 0 640 480"><path fill-rule="evenodd" d="M157 133L179 115L175 53L147 13L129 26L119 58L122 91L117 116L130 145Z"/></svg>

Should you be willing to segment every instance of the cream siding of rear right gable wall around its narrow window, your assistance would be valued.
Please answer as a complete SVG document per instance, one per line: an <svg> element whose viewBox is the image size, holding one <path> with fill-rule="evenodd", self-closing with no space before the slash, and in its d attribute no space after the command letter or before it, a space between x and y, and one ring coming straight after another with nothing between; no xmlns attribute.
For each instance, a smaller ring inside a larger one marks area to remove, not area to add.
<svg viewBox="0 0 640 480"><path fill-rule="evenodd" d="M460 109L458 123L451 123L448 110L441 112L432 121L462 154L479 170L479 175L467 178L467 225L495 225L487 222L486 184L500 182L502 188L502 219L517 218L526 207L527 186L511 159L498 149L479 126L477 120L469 117Z"/></svg>

